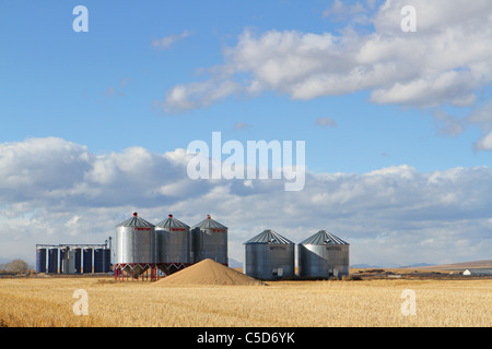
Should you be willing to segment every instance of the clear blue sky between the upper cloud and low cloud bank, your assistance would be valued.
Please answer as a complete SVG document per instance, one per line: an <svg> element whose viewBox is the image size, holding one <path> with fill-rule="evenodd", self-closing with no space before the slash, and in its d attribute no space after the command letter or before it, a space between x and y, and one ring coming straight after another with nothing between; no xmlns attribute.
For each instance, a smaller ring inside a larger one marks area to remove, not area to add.
<svg viewBox="0 0 492 349"><path fill-rule="evenodd" d="M473 152L478 130L456 139L440 135L429 110L374 105L366 91L311 100L267 92L177 115L155 109L153 101L174 85L201 81L198 69L221 64L223 48L234 46L245 28L337 34L345 22L323 16L329 1L89 1L89 33L72 31L77 4L2 4L0 29L9 33L2 36L1 112L9 116L3 141L59 136L93 152L133 145L166 152L221 131L242 142L305 140L307 166L315 171L365 172L401 164L432 171L490 161L489 154ZM167 49L151 45L185 31L189 36ZM337 127L316 125L326 117ZM238 122L248 130L234 132Z"/></svg>

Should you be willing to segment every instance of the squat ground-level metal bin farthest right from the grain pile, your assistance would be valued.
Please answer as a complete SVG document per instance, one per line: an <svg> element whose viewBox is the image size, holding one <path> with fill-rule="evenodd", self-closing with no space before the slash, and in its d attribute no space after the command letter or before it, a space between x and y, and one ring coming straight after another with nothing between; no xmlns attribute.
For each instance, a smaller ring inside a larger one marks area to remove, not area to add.
<svg viewBox="0 0 492 349"><path fill-rule="evenodd" d="M349 249L345 241L320 230L298 244L298 276L329 278L349 275Z"/></svg>

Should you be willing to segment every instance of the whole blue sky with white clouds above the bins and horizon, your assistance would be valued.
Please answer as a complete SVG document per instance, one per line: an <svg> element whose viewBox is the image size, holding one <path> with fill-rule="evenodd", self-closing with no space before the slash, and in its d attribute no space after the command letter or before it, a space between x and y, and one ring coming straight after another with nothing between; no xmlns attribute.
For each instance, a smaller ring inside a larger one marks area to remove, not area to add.
<svg viewBox="0 0 492 349"><path fill-rule="evenodd" d="M351 264L490 260L491 38L489 0L2 1L0 261L133 212L211 214L237 261L267 228ZM305 185L190 179L212 132L304 141Z"/></svg>

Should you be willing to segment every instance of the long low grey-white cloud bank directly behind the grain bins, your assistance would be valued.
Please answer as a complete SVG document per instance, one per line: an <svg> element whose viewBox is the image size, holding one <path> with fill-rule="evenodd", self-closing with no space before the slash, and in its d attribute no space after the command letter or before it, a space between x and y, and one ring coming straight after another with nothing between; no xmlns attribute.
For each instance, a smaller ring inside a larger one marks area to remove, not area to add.
<svg viewBox="0 0 492 349"><path fill-rule="evenodd" d="M132 212L153 222L174 214L190 226L211 214L230 227L236 260L266 228L295 242L331 230L351 243L352 263L485 260L492 248L485 167L306 173L303 191L285 192L279 180L189 180L184 149L95 156L65 140L31 139L0 151L4 258L33 261L36 243L103 243Z"/></svg>

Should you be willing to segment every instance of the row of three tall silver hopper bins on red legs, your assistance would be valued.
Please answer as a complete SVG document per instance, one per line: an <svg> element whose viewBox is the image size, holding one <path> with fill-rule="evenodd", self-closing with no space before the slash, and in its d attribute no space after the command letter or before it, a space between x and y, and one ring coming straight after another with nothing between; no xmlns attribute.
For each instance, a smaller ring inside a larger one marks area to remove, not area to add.
<svg viewBox="0 0 492 349"><path fill-rule="evenodd" d="M138 216L116 226L116 266L132 277L157 267L165 274L212 258L227 265L227 227L210 215L190 228L168 215L157 225Z"/></svg>

